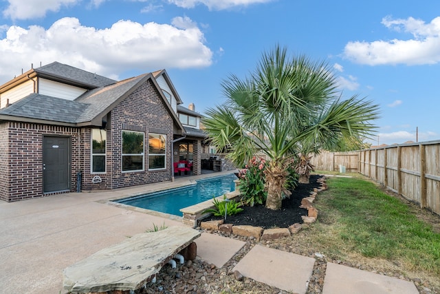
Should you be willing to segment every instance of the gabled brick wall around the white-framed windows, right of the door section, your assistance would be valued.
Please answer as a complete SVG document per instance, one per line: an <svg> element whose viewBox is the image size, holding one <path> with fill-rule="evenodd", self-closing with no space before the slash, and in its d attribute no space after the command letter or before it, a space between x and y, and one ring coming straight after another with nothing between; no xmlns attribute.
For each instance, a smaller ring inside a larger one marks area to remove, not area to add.
<svg viewBox="0 0 440 294"><path fill-rule="evenodd" d="M122 172L122 131L144 133L144 171ZM166 135L166 169L148 170L148 134ZM90 129L85 132L85 166L90 166ZM91 174L89 170L83 177L84 190L118 189L152 182L171 180L171 144L173 141L173 119L170 117L162 98L146 81L121 103L111 110L111 129L107 130L106 174ZM93 183L94 176L101 182Z"/></svg>

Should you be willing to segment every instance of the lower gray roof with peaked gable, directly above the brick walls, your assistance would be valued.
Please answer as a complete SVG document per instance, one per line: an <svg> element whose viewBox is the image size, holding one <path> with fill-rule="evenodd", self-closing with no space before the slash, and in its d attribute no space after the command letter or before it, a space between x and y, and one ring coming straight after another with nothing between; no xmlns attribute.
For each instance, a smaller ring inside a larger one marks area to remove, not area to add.
<svg viewBox="0 0 440 294"><path fill-rule="evenodd" d="M185 132L177 114L166 100L162 90L155 81L153 74L142 74L133 78L112 83L111 85L89 90L74 101L63 98L30 94L13 103L9 107L0 109L0 120L26 121L32 123L47 123L50 125L102 125L102 117L107 115L118 103L133 93L137 87L150 80L156 87L159 98L164 103L168 114L177 129Z"/></svg>

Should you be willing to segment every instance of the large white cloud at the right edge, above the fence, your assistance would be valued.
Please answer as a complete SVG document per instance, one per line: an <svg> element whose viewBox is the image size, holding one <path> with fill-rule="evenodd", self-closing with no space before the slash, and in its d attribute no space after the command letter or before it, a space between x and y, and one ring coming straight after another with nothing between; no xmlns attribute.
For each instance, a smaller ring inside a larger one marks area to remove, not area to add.
<svg viewBox="0 0 440 294"><path fill-rule="evenodd" d="M384 17L382 24L402 34L409 33L412 39L351 41L345 45L344 56L355 63L367 65L423 65L440 61L440 17L430 23L412 17Z"/></svg>

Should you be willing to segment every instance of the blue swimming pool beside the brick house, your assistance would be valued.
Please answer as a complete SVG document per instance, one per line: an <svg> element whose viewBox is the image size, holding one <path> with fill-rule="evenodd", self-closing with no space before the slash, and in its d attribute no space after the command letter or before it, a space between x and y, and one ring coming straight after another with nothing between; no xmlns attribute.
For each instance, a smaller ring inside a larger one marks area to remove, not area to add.
<svg viewBox="0 0 440 294"><path fill-rule="evenodd" d="M197 180L197 184L189 187L148 193L141 196L117 200L117 202L134 207L169 213L175 216L182 216L182 213L179 211L182 208L206 200L212 200L213 197L235 191L234 180L236 180L234 174Z"/></svg>

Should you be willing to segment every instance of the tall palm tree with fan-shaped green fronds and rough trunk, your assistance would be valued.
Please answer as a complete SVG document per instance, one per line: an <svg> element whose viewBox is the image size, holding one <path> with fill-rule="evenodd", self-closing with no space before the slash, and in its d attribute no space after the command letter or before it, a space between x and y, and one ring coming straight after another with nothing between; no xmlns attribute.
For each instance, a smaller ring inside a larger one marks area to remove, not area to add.
<svg viewBox="0 0 440 294"><path fill-rule="evenodd" d="M303 146L335 146L340 138L367 137L377 105L356 96L342 101L332 70L305 56L287 56L279 45L263 53L256 70L222 82L227 101L207 111L204 120L212 144L243 165L257 152L269 158L265 170L266 207L280 209L287 161Z"/></svg>

